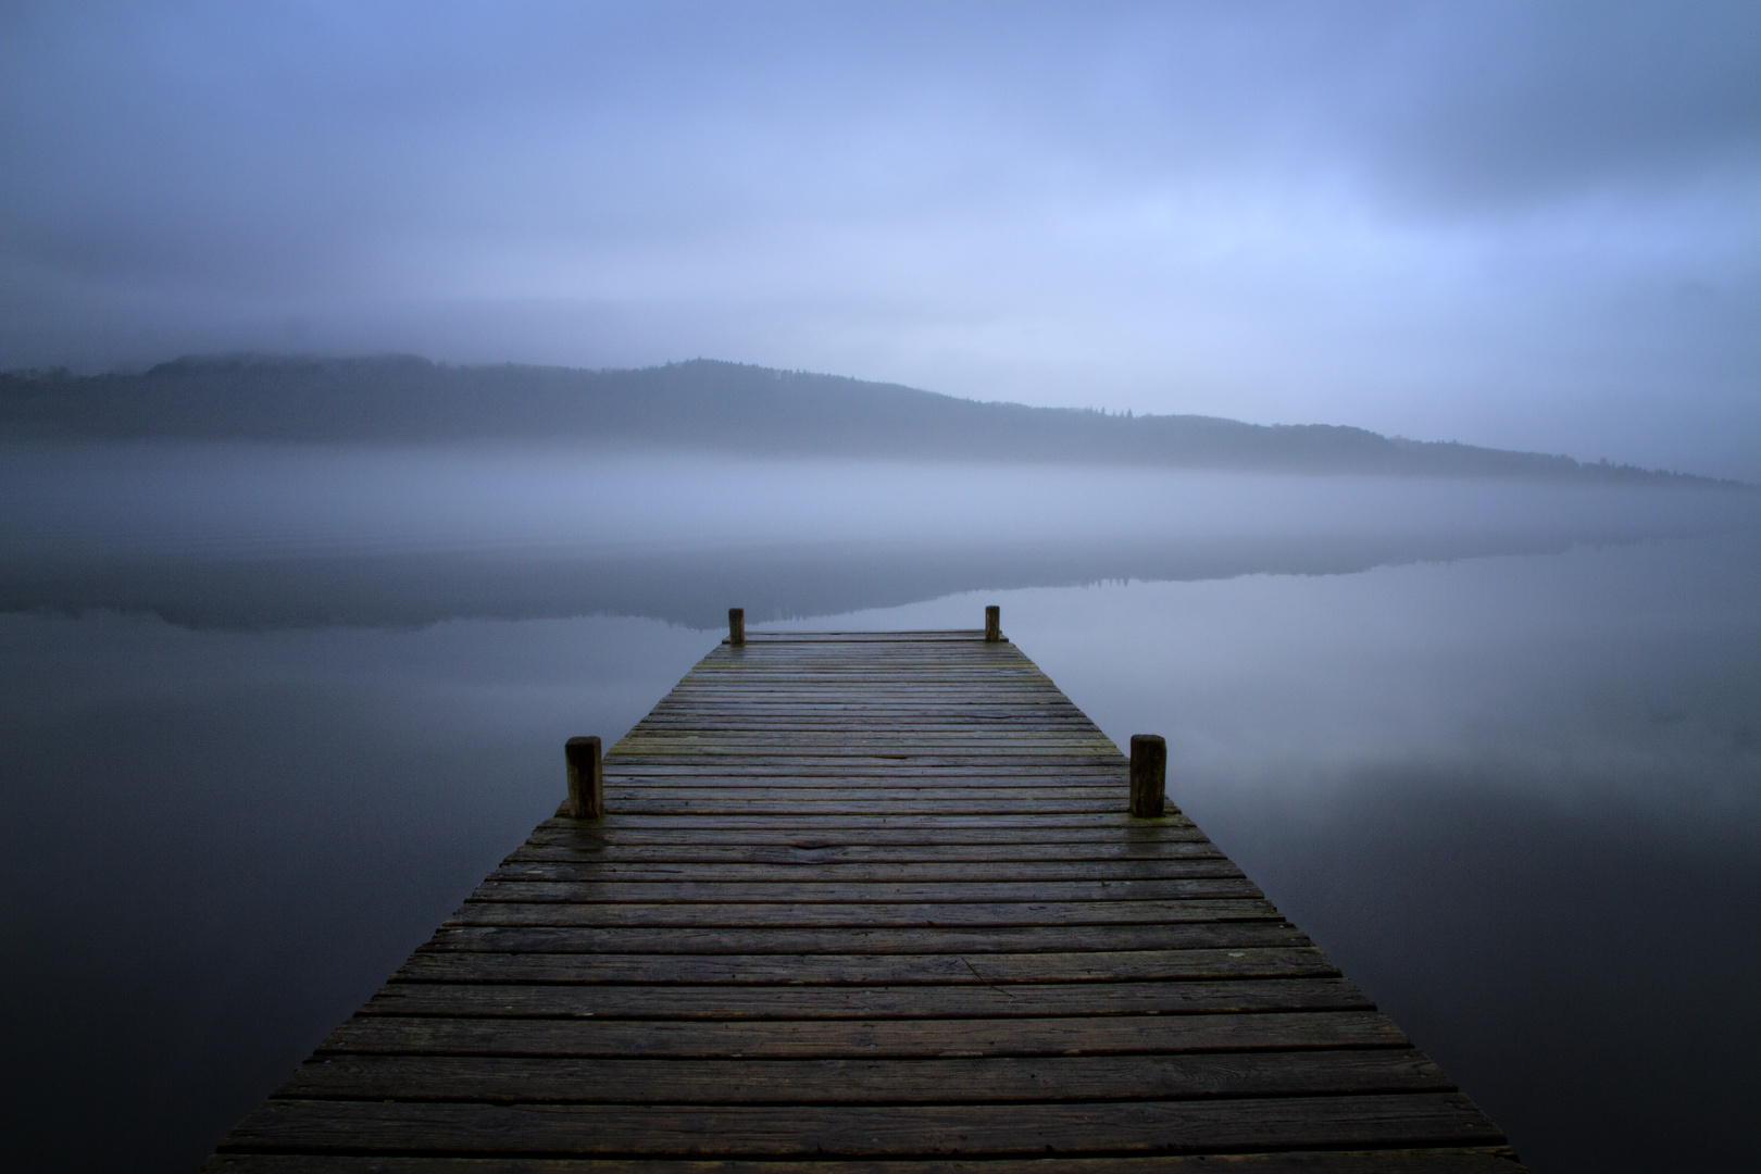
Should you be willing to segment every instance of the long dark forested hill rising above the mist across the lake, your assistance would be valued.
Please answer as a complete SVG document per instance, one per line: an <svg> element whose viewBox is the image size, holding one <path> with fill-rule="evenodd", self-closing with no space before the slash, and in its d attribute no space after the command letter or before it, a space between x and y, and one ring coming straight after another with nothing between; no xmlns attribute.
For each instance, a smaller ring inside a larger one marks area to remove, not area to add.
<svg viewBox="0 0 1761 1174"><path fill-rule="evenodd" d="M0 435L271 442L586 440L752 456L1160 465L1736 484L1331 424L1109 415L694 359L643 370L412 356L185 357L139 375L0 375Z"/></svg>

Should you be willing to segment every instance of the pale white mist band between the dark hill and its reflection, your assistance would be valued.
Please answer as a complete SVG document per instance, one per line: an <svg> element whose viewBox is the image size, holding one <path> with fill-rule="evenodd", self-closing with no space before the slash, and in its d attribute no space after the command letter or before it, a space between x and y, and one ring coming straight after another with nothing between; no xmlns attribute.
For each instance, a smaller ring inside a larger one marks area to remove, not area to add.
<svg viewBox="0 0 1761 1174"><path fill-rule="evenodd" d="M9 554L299 556L745 544L1655 537L1726 491L1057 465L755 461L578 445L0 442Z"/></svg>

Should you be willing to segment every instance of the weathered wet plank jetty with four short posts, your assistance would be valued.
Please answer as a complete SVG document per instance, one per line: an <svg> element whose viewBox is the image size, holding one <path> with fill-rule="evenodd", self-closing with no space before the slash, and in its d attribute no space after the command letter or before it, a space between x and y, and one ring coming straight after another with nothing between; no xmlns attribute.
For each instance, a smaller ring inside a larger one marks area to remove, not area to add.
<svg viewBox="0 0 1761 1174"><path fill-rule="evenodd" d="M995 611L736 614L203 1170L1520 1170L1138 750Z"/></svg>

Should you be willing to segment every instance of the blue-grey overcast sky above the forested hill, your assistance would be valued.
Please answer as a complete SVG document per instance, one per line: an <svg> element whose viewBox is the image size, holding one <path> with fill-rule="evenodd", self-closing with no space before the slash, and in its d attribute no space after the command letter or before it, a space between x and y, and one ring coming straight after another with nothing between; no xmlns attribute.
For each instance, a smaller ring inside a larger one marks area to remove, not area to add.
<svg viewBox="0 0 1761 1174"><path fill-rule="evenodd" d="M1761 477L1761 5L5 4L0 368L696 356Z"/></svg>

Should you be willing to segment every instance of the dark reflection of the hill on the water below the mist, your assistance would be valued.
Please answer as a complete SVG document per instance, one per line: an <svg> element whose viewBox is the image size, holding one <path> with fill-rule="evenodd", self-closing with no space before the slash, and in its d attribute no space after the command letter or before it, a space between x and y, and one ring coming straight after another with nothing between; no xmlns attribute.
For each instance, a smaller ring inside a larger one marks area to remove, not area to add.
<svg viewBox="0 0 1761 1174"><path fill-rule="evenodd" d="M1557 554L1638 532L1254 535L1009 544L791 544L593 556L555 551L12 563L0 611L153 613L188 628L423 627L444 620L648 616L718 627L731 604L755 621L891 607L958 591L1330 576L1495 554Z"/></svg>

